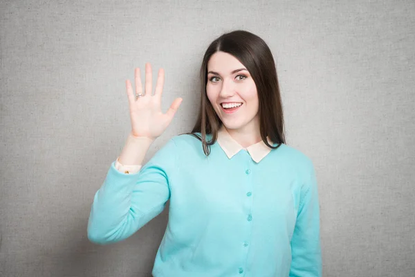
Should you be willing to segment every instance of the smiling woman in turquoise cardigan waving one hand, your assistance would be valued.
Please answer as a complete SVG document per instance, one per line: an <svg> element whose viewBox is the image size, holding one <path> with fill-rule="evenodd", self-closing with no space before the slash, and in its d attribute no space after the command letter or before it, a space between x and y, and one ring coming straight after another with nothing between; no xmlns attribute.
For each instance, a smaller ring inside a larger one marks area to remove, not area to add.
<svg viewBox="0 0 415 277"><path fill-rule="evenodd" d="M93 199L89 240L124 240L170 200L154 276L321 276L315 170L285 144L277 72L264 40L236 30L210 44L196 125L143 166L182 99L163 114L163 69L154 95L149 64L145 93L140 69L135 79L136 97L127 80L131 134Z"/></svg>

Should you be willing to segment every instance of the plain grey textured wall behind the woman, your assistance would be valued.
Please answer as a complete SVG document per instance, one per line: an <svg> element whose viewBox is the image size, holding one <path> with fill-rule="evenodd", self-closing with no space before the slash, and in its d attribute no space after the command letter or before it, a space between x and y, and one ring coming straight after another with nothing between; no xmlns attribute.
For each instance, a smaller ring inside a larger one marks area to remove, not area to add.
<svg viewBox="0 0 415 277"><path fill-rule="evenodd" d="M315 163L324 276L415 276L413 0L48 2L0 3L0 276L150 276L167 209L86 238L130 130L125 80L151 62L163 109L184 98L148 161L192 129L205 48L237 28L273 51L288 145Z"/></svg>

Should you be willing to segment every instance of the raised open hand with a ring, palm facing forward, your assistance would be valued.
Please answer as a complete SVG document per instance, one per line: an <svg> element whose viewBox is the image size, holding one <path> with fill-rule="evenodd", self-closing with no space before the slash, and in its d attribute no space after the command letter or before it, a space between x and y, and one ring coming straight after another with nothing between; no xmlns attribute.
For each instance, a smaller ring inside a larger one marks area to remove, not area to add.
<svg viewBox="0 0 415 277"><path fill-rule="evenodd" d="M164 84L164 69L158 71L156 90L152 95L151 65L145 64L145 93L142 92L140 69L136 68L136 94L133 93L131 82L127 80L127 96L131 117L131 134L155 140L163 134L172 122L174 114L181 105L182 98L176 98L167 112L161 111L161 95Z"/></svg>

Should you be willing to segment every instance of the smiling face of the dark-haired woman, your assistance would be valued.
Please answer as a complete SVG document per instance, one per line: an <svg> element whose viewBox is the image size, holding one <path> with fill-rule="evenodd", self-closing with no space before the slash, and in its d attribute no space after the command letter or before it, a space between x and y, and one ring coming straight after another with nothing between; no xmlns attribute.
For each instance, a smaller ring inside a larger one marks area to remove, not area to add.
<svg viewBox="0 0 415 277"><path fill-rule="evenodd" d="M246 67L237 58L221 51L210 57L206 93L227 129L257 132L257 87Z"/></svg>

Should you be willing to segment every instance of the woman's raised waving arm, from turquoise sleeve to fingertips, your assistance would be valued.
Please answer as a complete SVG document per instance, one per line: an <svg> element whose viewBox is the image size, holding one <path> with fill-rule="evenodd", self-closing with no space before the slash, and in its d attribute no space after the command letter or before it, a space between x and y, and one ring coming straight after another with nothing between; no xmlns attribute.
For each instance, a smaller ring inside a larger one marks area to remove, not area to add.
<svg viewBox="0 0 415 277"><path fill-rule="evenodd" d="M156 217L169 199L169 172L175 172L176 144L170 139L148 163L142 161L151 143L172 122L181 98L176 98L169 110L160 109L164 71L160 69L154 96L151 93L151 66L146 64L145 94L133 96L127 80L127 96L131 117L131 133L118 157L122 165L140 168L138 172L121 172L111 163L107 177L95 193L88 222L88 238L97 244L109 244L128 238L149 220ZM135 71L136 91L142 93L140 69Z"/></svg>

